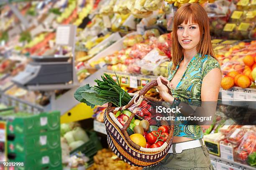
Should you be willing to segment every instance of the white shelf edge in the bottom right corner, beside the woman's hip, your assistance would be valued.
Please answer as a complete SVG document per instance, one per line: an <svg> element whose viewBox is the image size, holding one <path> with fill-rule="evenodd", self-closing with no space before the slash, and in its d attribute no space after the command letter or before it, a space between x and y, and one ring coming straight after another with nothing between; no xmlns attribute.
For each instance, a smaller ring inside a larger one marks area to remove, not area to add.
<svg viewBox="0 0 256 170"><path fill-rule="evenodd" d="M256 170L256 167L241 164L210 154L211 162L217 170Z"/></svg>

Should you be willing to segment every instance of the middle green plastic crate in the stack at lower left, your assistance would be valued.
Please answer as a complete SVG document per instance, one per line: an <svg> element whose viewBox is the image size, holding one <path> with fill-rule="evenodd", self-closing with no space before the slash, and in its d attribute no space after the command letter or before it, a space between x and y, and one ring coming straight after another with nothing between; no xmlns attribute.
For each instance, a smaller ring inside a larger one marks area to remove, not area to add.
<svg viewBox="0 0 256 170"><path fill-rule="evenodd" d="M10 136L8 138L8 153L28 155L61 147L59 130L29 136L18 135L13 140L10 140Z"/></svg>

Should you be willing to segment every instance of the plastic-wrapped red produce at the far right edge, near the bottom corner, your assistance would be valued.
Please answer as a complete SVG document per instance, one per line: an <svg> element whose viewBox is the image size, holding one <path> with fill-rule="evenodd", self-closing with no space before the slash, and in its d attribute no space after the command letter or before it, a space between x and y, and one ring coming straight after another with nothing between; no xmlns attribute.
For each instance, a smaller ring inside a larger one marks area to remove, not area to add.
<svg viewBox="0 0 256 170"><path fill-rule="evenodd" d="M256 151L256 132L248 131L243 136L243 140L239 147L235 150L235 156L238 160L246 162L248 155Z"/></svg>

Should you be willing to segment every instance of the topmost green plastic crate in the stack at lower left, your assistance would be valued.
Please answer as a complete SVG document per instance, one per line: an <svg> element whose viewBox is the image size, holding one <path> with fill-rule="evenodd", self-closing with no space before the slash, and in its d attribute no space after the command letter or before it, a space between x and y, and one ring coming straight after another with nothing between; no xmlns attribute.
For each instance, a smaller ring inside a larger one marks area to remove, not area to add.
<svg viewBox="0 0 256 170"><path fill-rule="evenodd" d="M7 123L7 134L28 135L54 130L60 130L60 112L15 117Z"/></svg>

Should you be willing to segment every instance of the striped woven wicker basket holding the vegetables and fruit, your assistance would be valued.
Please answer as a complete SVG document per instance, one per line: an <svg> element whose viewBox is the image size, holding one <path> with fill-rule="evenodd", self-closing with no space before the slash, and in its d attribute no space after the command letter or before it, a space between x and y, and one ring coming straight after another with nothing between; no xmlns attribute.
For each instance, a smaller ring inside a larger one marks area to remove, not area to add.
<svg viewBox="0 0 256 170"><path fill-rule="evenodd" d="M167 86L167 82L162 81L163 84ZM162 125L166 125L169 129L169 136L167 137L166 142L161 147L157 148L144 148L136 143L134 143L127 132L127 128L131 124L131 120L133 119L136 111L132 112L128 121L122 128L122 125L117 121L113 112L117 112L118 110L124 110L131 107L133 104L141 104L141 101L146 98L149 101L163 101L160 99L155 99L153 97L144 96L146 92L152 87L157 86L157 81L153 80L149 84L147 84L133 99L124 107L112 107L112 104L108 104L108 108L104 114L104 123L106 127L106 131L108 134L107 140L110 146L110 149L118 156L120 159L127 162L129 165L137 166L137 167L149 167L158 164L161 160L164 159L166 154L168 153L174 132L174 121L164 122ZM169 91L170 93L170 91ZM133 96L133 95L131 95ZM173 115L172 115L173 116Z"/></svg>

